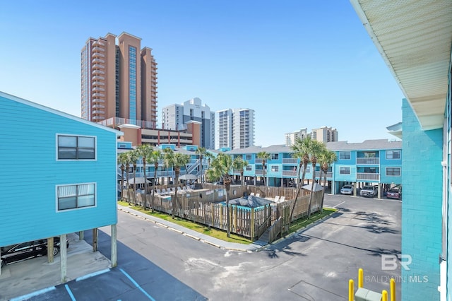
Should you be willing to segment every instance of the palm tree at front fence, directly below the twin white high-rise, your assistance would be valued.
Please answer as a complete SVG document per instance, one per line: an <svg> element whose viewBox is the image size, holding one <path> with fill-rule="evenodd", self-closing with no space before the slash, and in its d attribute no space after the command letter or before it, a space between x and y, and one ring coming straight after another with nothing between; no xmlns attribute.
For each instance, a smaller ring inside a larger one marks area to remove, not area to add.
<svg viewBox="0 0 452 301"><path fill-rule="evenodd" d="M232 169L232 158L225 153L218 154L217 158L212 161L212 165L208 170L209 181L215 181L222 177L226 190L226 228L227 237L231 236L231 221L229 210L229 191L231 188L231 176L229 174Z"/></svg>

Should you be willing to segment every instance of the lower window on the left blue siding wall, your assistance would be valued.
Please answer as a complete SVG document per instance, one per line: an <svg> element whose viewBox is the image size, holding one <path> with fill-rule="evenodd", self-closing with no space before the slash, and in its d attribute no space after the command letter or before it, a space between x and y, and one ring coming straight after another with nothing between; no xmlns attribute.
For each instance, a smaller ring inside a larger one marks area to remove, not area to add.
<svg viewBox="0 0 452 301"><path fill-rule="evenodd" d="M95 206L95 184L57 186L57 210Z"/></svg>

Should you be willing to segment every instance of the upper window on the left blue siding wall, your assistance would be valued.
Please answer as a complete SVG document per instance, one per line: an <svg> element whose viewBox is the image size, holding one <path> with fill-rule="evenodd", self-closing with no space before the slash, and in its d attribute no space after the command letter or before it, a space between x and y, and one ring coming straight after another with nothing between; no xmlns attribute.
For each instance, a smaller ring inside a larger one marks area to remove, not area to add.
<svg viewBox="0 0 452 301"><path fill-rule="evenodd" d="M95 160L95 137L58 135L58 160Z"/></svg>

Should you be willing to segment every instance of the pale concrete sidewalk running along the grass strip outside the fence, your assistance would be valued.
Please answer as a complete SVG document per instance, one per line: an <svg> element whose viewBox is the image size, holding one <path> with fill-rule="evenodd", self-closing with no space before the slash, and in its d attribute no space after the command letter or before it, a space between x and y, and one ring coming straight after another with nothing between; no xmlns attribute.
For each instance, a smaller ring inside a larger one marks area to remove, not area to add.
<svg viewBox="0 0 452 301"><path fill-rule="evenodd" d="M140 211L133 210L132 208L121 206L118 204L118 210L129 213L133 216L137 216L139 218L143 218L143 220L147 220L150 223L155 223L156 225L160 225L161 227L167 228L169 230L173 230L175 232L180 233L181 235L185 235L186 237L193 238L194 240L199 240L201 242L205 242L206 244L213 245L214 247L218 247L220 249L227 249L232 251L241 251L241 252L256 252L263 247L266 247L268 242L262 242L257 240L251 244L238 244L236 242L225 242L224 240L218 240L218 238L211 237L209 235L205 235L200 232L196 232L191 229L187 229L182 227L181 225L177 225L175 223L169 222L167 220L162 220L162 218L156 218L155 216L149 216L148 214L142 213Z"/></svg>

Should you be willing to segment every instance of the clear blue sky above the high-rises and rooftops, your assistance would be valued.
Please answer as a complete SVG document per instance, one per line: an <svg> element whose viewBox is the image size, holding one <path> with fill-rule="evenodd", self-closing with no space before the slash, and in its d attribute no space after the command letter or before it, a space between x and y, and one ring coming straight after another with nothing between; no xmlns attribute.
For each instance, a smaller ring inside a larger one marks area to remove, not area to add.
<svg viewBox="0 0 452 301"><path fill-rule="evenodd" d="M349 1L4 1L0 90L80 116L88 37L141 37L158 64L158 114L201 98L256 111L255 144L321 126L395 139L403 93Z"/></svg>

